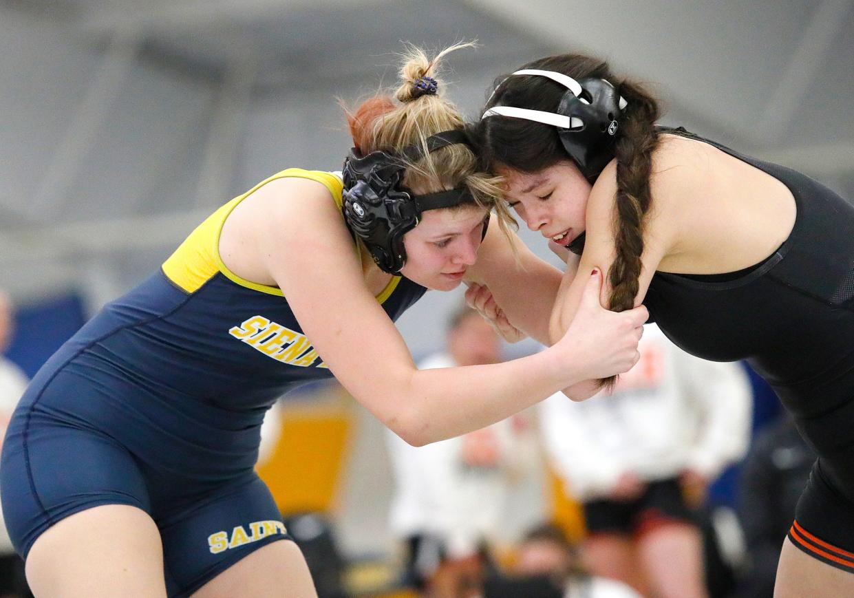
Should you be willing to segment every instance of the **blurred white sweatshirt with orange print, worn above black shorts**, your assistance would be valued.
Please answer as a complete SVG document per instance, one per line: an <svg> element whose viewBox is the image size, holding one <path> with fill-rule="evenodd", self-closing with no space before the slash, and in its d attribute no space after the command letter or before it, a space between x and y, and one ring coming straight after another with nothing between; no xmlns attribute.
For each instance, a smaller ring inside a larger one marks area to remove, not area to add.
<svg viewBox="0 0 854 598"><path fill-rule="evenodd" d="M559 393L540 404L547 454L578 500L607 497L623 472L655 481L693 469L714 479L746 452L752 393L739 364L688 355L655 325L639 350L612 396Z"/></svg>

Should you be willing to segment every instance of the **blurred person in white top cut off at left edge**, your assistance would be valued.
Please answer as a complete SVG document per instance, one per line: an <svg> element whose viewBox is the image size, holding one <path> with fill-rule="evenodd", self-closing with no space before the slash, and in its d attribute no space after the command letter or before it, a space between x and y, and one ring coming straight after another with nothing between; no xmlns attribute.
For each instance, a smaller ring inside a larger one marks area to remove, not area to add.
<svg viewBox="0 0 854 598"><path fill-rule="evenodd" d="M12 304L9 296L0 291L0 447L3 446L12 412L28 382L24 372L3 356L12 341L12 328ZM0 510L0 598L26 595L23 562L12 548L2 515Z"/></svg>

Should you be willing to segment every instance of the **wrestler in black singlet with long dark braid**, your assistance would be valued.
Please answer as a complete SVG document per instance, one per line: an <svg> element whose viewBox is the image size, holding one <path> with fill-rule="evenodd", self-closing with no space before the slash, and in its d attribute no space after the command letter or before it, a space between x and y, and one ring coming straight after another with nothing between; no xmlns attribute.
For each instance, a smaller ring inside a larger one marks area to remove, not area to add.
<svg viewBox="0 0 854 598"><path fill-rule="evenodd" d="M559 290L553 339L578 323L598 268L611 309L644 302L683 349L747 359L774 386L820 455L776 595L854 595L854 207L657 119L639 85L564 55L501 80L471 134L529 228L581 253ZM495 319L505 290L493 299L475 285L468 300Z"/></svg>

